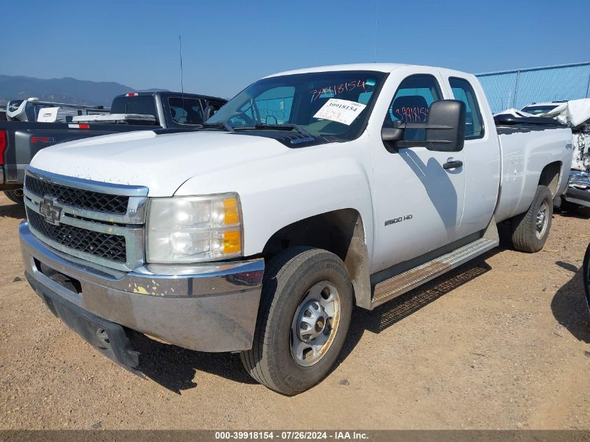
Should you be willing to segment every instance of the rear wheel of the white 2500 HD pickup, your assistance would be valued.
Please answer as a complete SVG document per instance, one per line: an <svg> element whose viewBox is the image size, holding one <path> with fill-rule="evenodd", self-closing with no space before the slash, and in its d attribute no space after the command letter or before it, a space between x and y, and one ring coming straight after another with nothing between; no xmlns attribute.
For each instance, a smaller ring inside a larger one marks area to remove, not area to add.
<svg viewBox="0 0 590 442"><path fill-rule="evenodd" d="M553 216L553 197L547 186L537 186L531 207L523 214L514 216L512 245L515 249L534 253L543 249Z"/></svg>

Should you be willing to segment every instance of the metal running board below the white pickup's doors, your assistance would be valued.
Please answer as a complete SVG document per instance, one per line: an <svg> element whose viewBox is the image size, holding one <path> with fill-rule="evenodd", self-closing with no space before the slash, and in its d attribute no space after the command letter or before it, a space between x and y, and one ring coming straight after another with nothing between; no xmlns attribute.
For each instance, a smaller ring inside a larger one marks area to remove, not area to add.
<svg viewBox="0 0 590 442"><path fill-rule="evenodd" d="M494 225L494 228L495 227L496 226ZM385 281L376 284L371 299L371 309L383 304L383 302L392 300L394 297L403 295L413 288L466 263L466 261L469 261L490 249L494 249L494 247L498 245L499 240L497 236L493 239L482 237L479 240L470 242L450 253L446 253L443 256L439 256L427 263L418 265L418 267L406 270L406 272L402 272L390 279L386 279Z"/></svg>

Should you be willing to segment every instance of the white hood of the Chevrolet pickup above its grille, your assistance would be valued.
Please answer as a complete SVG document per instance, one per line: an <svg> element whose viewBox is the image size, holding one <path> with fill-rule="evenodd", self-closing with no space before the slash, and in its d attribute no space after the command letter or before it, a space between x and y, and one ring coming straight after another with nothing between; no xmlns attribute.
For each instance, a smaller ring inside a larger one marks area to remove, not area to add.
<svg viewBox="0 0 590 442"><path fill-rule="evenodd" d="M149 196L172 196L196 175L222 172L289 150L272 138L253 135L138 131L47 147L34 156L31 166L68 177L147 186Z"/></svg>

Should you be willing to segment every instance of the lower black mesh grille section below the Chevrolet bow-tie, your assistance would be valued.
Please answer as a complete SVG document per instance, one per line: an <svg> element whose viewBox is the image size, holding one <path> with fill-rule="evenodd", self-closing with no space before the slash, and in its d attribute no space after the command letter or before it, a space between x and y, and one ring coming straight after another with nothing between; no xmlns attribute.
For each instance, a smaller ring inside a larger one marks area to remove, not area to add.
<svg viewBox="0 0 590 442"><path fill-rule="evenodd" d="M54 226L47 223L44 216L33 212L29 207L27 207L27 219L31 227L47 240L89 255L112 260L115 263L125 263L127 260L123 236L94 232L68 224Z"/></svg>

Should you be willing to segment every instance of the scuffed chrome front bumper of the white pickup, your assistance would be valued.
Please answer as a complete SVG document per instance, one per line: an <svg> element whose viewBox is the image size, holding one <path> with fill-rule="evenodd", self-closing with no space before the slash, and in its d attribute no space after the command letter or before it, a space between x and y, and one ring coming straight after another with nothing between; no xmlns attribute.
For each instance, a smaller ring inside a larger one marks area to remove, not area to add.
<svg viewBox="0 0 590 442"><path fill-rule="evenodd" d="M25 221L19 236L25 275L42 293L184 348L221 352L252 346L263 259L207 263L182 271L161 267L168 275L154 272L157 267L112 274L46 246Z"/></svg>

